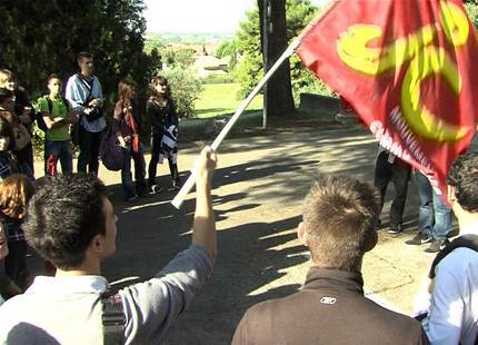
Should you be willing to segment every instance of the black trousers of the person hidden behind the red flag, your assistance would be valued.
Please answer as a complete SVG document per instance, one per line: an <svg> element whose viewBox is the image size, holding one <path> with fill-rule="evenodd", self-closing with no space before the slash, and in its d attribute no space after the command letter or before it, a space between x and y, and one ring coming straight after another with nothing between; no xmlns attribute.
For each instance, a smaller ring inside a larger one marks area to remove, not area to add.
<svg viewBox="0 0 478 345"><path fill-rule="evenodd" d="M395 198L390 207L390 223L399 225L404 221L405 203L407 201L408 180L411 167L404 160L395 157L394 162L388 160L389 152L381 151L375 165L374 185L380 191L380 213L384 207L385 194L390 181L395 187Z"/></svg>

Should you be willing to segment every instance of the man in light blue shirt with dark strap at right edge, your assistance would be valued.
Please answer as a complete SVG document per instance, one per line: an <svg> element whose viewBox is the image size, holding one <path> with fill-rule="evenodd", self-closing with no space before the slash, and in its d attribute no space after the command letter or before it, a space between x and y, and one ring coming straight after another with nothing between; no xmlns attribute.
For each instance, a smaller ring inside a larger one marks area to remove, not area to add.
<svg viewBox="0 0 478 345"><path fill-rule="evenodd" d="M460 156L447 184L460 235L439 254L442 259L434 262L431 294L419 295L415 308L428 312L422 324L432 344L477 344L478 152ZM466 243L475 246L462 246ZM442 256L445 253L449 254Z"/></svg>

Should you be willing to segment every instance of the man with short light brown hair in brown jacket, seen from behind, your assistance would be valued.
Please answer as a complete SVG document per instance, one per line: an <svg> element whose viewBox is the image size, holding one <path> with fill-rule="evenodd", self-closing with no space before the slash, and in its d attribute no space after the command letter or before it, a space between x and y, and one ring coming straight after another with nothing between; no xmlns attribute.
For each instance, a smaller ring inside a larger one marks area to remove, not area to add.
<svg viewBox="0 0 478 345"><path fill-rule="evenodd" d="M346 176L320 178L299 240L312 266L302 289L251 307L232 344L428 344L420 324L364 296L364 254L377 243L378 193Z"/></svg>

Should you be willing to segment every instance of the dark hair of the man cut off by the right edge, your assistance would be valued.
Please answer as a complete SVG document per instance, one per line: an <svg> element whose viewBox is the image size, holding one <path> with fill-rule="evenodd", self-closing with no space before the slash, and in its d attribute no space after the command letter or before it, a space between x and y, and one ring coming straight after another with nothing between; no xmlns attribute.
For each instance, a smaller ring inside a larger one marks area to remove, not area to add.
<svg viewBox="0 0 478 345"><path fill-rule="evenodd" d="M478 152L461 155L448 172L448 185L455 187L455 197L461 208L478 211Z"/></svg>

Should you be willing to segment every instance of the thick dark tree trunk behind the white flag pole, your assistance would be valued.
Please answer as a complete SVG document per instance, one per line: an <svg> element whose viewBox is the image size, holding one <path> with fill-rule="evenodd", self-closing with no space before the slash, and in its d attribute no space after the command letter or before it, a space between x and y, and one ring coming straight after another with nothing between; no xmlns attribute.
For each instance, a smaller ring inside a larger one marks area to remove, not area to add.
<svg viewBox="0 0 478 345"><path fill-rule="evenodd" d="M267 0L270 7L270 24L263 32L265 0L258 0L261 42L267 41L267 68L269 69L287 49L286 0ZM266 36L267 34L267 38ZM263 47L263 45L262 45ZM262 48L263 49L263 48ZM289 59L267 82L265 92L268 116L287 116L293 112Z"/></svg>

